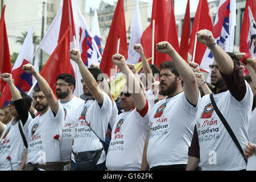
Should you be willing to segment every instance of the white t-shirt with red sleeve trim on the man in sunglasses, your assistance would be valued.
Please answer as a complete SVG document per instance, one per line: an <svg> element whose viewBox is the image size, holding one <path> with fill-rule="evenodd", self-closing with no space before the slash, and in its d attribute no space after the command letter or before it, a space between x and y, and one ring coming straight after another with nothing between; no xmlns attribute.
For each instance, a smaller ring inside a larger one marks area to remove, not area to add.
<svg viewBox="0 0 256 182"><path fill-rule="evenodd" d="M148 134L148 113L147 105L146 110L137 111L134 108L118 115L106 157L106 167L109 170L141 169L143 148Z"/></svg>

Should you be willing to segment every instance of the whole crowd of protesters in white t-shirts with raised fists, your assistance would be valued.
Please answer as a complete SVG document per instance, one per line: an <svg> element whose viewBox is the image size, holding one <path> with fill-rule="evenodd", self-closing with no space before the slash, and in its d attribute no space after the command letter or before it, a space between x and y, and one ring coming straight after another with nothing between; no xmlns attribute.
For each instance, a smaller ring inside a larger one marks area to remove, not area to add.
<svg viewBox="0 0 256 182"><path fill-rule="evenodd" d="M79 49L70 57L82 76L80 98L67 73L57 76L52 90L33 65L23 65L39 84L32 98L2 73L12 98L0 109L0 170L245 170L256 151L256 59L245 63L245 53L225 52L208 30L197 32L197 40L214 57L210 82L170 43L156 44L172 59L160 69L136 44L141 76L122 55L112 57L126 81L117 99L98 65L85 66Z"/></svg>

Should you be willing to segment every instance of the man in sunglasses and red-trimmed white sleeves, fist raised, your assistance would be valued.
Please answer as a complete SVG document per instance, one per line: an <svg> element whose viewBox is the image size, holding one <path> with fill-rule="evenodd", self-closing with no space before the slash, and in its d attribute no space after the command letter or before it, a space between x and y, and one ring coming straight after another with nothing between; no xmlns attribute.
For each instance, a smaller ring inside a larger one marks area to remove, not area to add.
<svg viewBox="0 0 256 182"><path fill-rule="evenodd" d="M134 64L127 65L125 57L115 54L112 61L125 75L126 85L120 93L121 108L112 129L106 167L109 170L140 170L144 142L148 133L149 104L134 75Z"/></svg>

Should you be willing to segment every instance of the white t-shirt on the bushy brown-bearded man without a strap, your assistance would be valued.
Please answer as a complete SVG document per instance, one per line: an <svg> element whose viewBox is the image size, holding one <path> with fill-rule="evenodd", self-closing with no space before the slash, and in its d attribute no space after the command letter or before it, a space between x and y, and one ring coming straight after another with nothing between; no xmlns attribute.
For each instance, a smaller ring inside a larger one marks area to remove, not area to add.
<svg viewBox="0 0 256 182"><path fill-rule="evenodd" d="M200 93L197 105L199 100ZM188 163L196 110L197 106L189 104L184 92L155 104L150 117L147 147L150 168Z"/></svg>

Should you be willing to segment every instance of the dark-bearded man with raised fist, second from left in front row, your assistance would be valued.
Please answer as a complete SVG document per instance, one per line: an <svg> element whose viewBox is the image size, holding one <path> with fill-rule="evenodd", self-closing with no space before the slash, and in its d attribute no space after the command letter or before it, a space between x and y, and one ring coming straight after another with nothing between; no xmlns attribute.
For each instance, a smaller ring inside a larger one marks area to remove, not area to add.
<svg viewBox="0 0 256 182"><path fill-rule="evenodd" d="M61 170L59 141L64 126L64 109L59 104L47 81L31 64L23 65L23 72L32 74L40 88L35 90L33 99L35 109L40 115L28 125L27 164L25 170Z"/></svg>

